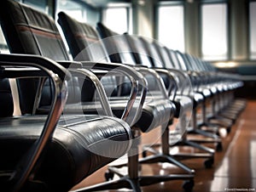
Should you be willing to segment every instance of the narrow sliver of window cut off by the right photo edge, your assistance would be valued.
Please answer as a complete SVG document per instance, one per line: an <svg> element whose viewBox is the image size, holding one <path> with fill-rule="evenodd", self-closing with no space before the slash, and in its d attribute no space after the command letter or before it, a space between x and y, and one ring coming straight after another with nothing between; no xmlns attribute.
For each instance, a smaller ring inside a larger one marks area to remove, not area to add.
<svg viewBox="0 0 256 192"><path fill-rule="evenodd" d="M256 59L256 2L250 3L250 59Z"/></svg>

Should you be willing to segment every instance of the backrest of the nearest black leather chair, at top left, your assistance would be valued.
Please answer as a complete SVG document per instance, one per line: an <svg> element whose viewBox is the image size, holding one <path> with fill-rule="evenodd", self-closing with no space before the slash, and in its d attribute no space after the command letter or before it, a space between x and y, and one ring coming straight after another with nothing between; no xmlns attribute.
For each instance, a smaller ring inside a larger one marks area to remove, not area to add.
<svg viewBox="0 0 256 192"><path fill-rule="evenodd" d="M55 20L47 14L6 0L1 2L1 25L11 53L69 60Z"/></svg>

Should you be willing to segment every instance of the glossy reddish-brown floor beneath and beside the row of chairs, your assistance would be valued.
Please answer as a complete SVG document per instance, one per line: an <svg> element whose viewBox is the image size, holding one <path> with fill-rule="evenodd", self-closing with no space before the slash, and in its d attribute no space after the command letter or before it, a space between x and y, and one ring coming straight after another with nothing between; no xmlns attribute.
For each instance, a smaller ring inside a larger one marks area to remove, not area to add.
<svg viewBox="0 0 256 192"><path fill-rule="evenodd" d="M209 145L210 146L210 145ZM214 147L214 146L212 146ZM212 168L205 168L203 159L183 161L195 169L195 186L193 191L256 191L256 100L247 101L247 108L241 114L230 134L223 138L224 149L216 152ZM102 168L74 189L104 181ZM167 163L143 165L143 174L178 173L176 167ZM143 187L144 192L183 191L183 181L168 181ZM115 190L111 190L115 191ZM131 191L119 189L117 191Z"/></svg>

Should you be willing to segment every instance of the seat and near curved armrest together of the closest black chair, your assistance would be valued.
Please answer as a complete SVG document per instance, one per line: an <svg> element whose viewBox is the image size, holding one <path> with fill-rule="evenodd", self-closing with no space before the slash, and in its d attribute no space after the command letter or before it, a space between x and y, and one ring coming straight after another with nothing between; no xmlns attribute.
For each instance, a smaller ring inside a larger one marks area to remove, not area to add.
<svg viewBox="0 0 256 192"><path fill-rule="evenodd" d="M0 65L4 191L67 191L130 149L131 129L125 121L110 116L61 116L71 77L61 65L41 56L16 54L0 54ZM54 85L49 114L12 116L6 78L38 76L49 76Z"/></svg>

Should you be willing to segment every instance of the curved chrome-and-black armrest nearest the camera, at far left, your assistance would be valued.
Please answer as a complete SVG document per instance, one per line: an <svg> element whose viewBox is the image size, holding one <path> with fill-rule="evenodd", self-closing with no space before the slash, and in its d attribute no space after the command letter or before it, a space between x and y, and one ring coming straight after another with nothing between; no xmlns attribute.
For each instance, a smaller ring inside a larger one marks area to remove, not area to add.
<svg viewBox="0 0 256 192"><path fill-rule="evenodd" d="M44 150L45 145L52 137L52 133L55 130L55 126L57 121L61 116L61 112L63 110L63 106L67 100L67 79L70 79L70 73L61 65L58 65L54 61L50 59L43 58L41 56L31 56L31 55L21 55L21 54L0 54L0 65L2 67L2 71L6 69L9 73L5 73L1 71L2 77L11 73L11 68L13 66L31 66L39 68L44 71L44 76L47 74L51 81L55 85L55 95L54 101L49 111L49 115L44 123L44 127L42 133L35 144L32 145L32 148L29 152L24 156L24 158L20 161L17 166L12 178L9 180L9 185L12 190L19 190L22 184L25 183L27 177L29 176L32 168L35 166L38 161L39 155ZM22 68L20 68L22 69ZM13 68L15 71L15 68ZM33 70L31 70L32 72ZM16 75L18 72L15 71ZM42 76L42 72L35 70L32 74L35 76L38 73L38 76ZM20 75L17 77L25 76L24 71L20 72ZM31 75L31 74L30 74ZM14 76L12 76L14 77Z"/></svg>

